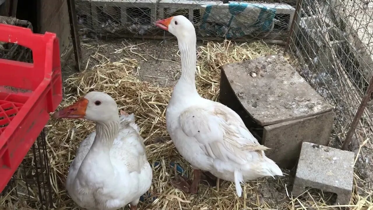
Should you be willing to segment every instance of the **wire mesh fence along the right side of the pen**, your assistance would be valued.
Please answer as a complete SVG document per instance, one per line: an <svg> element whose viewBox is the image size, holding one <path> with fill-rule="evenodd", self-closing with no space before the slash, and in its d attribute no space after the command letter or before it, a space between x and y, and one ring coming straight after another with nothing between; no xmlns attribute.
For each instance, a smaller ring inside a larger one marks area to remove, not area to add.
<svg viewBox="0 0 373 210"><path fill-rule="evenodd" d="M298 72L335 106L332 144L340 148L372 77L372 3L360 0L301 0L290 50ZM361 149L358 163L372 176L372 103L364 109L352 138ZM370 166L369 166L370 165Z"/></svg>

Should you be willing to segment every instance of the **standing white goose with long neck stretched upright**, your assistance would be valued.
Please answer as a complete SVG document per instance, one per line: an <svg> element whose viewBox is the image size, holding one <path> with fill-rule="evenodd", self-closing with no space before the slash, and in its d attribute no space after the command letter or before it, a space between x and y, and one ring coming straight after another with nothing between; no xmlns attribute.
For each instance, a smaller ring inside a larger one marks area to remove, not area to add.
<svg viewBox="0 0 373 210"><path fill-rule="evenodd" d="M282 176L276 163L264 155L268 148L258 143L236 112L197 93L196 35L192 23L178 15L156 21L155 25L176 36L181 53L181 77L167 105L166 125L176 149L192 165L194 179L191 185L183 179L174 185L195 194L204 170L234 182L241 197L240 182Z"/></svg>

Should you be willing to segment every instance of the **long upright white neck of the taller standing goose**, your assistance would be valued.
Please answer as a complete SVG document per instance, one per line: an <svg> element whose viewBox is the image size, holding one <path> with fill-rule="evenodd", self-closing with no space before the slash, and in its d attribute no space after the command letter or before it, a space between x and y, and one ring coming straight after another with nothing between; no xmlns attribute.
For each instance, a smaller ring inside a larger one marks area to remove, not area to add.
<svg viewBox="0 0 373 210"><path fill-rule="evenodd" d="M195 69L196 69L196 42L195 39L189 41L178 41L181 54L181 76L175 89L184 89L192 94L197 94L195 89Z"/></svg>

